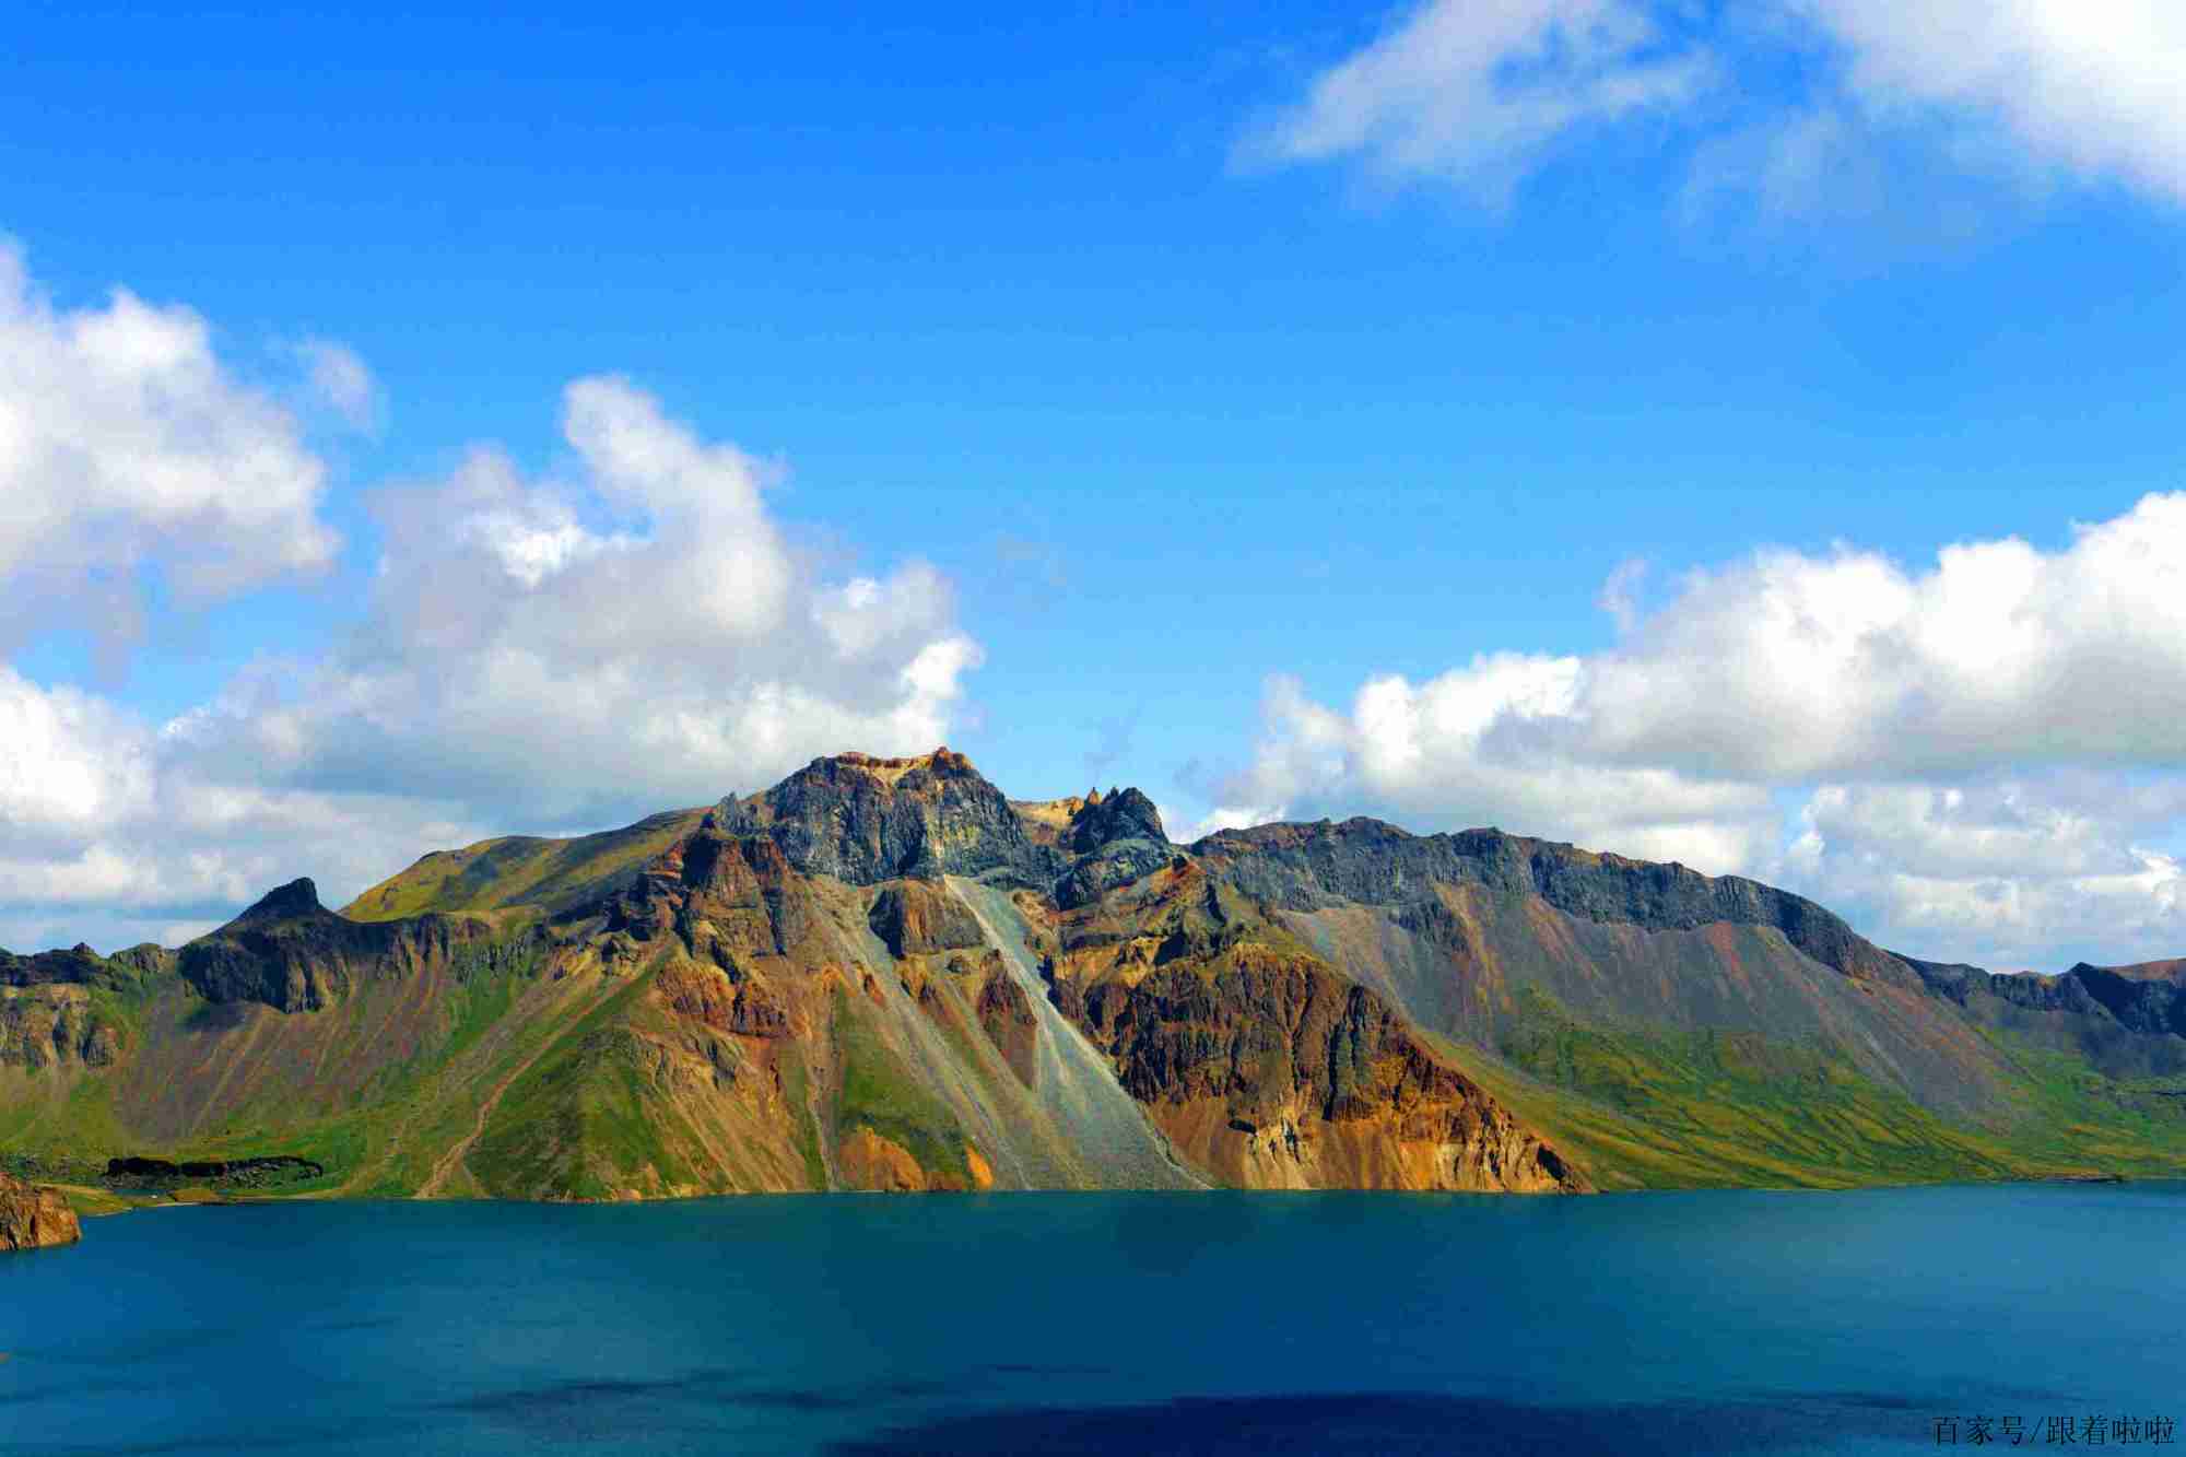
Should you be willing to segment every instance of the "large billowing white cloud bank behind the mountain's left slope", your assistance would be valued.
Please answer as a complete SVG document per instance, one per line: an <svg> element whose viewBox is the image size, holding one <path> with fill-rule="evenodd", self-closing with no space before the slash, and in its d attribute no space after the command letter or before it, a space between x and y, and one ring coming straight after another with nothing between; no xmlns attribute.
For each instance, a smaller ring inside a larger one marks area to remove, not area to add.
<svg viewBox="0 0 2186 1457"><path fill-rule="evenodd" d="M949 737L979 648L938 571L831 573L774 468L627 381L573 383L562 435L564 475L477 446L378 492L348 634L164 724L0 669L0 945L155 936L295 875L339 904L428 849Z"/></svg>

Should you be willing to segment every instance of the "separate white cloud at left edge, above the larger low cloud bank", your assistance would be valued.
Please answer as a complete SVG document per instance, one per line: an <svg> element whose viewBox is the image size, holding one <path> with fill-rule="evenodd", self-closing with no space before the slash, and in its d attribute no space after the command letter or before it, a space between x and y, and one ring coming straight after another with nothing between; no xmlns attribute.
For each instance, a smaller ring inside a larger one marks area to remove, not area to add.
<svg viewBox="0 0 2186 1457"><path fill-rule="evenodd" d="M0 650L61 619L133 637L151 564L186 606L324 571L324 490L199 315L127 289L57 308L0 241Z"/></svg>

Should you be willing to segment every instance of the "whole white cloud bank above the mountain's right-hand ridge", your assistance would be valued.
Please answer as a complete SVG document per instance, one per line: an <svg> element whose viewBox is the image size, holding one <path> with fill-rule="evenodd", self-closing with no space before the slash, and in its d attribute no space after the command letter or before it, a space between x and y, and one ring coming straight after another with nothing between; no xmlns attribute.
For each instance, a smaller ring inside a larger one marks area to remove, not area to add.
<svg viewBox="0 0 2186 1457"><path fill-rule="evenodd" d="M1779 879L1913 954L2186 952L2186 494L1926 569L1838 547L1696 571L1613 648L1484 654L1349 709L1274 680L1215 818L1570 838Z"/></svg>

